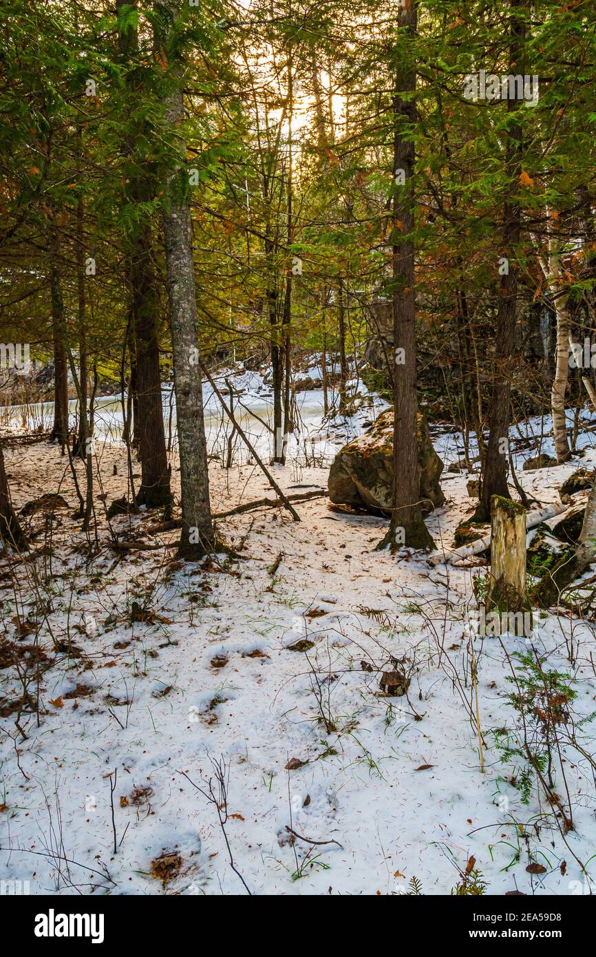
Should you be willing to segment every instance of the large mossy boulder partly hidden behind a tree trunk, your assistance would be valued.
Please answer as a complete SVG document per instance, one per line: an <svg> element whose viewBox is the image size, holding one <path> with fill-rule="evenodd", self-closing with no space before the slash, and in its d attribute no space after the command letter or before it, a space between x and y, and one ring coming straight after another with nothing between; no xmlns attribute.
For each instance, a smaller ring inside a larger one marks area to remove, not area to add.
<svg viewBox="0 0 596 957"><path fill-rule="evenodd" d="M445 501L439 485L443 462L430 441L425 417L417 416L418 472L423 515ZM393 412L383 412L370 430L344 445L329 470L329 498L336 505L372 511L391 507L393 485Z"/></svg>

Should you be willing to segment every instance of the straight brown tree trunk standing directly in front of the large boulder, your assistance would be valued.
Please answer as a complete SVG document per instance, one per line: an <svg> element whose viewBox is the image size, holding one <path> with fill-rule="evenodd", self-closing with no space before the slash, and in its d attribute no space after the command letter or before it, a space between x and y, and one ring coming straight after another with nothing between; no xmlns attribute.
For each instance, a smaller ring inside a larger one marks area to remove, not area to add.
<svg viewBox="0 0 596 957"><path fill-rule="evenodd" d="M400 8L399 28L414 39L417 29L416 3ZM413 56L408 64L398 67L396 90L416 88ZM412 177L414 145L404 136L404 125L411 128L416 119L413 100L393 97L393 181L398 170L405 172L405 185L393 187L393 507L391 521L380 547L397 544L413 548L432 547L433 542L420 511L420 478L418 443L416 440L416 334L414 300L414 244L410 234L414 228ZM404 238L400 239L400 232ZM399 538L397 530L401 530Z"/></svg>

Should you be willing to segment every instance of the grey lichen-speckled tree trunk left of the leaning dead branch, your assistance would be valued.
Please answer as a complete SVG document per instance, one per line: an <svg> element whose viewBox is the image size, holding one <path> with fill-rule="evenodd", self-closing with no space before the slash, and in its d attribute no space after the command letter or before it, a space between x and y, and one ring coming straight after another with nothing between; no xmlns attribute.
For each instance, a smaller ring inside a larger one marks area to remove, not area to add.
<svg viewBox="0 0 596 957"><path fill-rule="evenodd" d="M169 3L175 19L178 4ZM211 522L209 467L203 384L199 365L199 339L192 256L192 227L185 175L186 145L177 130L184 119L184 99L179 85L166 101L166 120L178 137L180 166L168 181L168 206L164 212L169 321L172 337L176 424L180 452L182 533L180 552L199 558L215 544Z"/></svg>

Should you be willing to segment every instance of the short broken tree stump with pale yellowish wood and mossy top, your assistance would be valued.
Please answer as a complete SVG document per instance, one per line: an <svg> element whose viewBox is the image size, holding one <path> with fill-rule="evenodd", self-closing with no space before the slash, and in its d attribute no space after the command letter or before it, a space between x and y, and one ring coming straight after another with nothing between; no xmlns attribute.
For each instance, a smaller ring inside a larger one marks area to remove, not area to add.
<svg viewBox="0 0 596 957"><path fill-rule="evenodd" d="M510 632L527 637L532 615L526 597L526 514L500 495L491 500L491 583L483 634Z"/></svg>

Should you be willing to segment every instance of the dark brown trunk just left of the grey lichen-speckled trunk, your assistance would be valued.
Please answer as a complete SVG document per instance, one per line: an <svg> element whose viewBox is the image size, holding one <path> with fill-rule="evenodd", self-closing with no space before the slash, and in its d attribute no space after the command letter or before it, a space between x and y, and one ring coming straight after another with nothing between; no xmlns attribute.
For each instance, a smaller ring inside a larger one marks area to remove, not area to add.
<svg viewBox="0 0 596 957"><path fill-rule="evenodd" d="M117 9L137 6L136 0L117 0ZM138 33L129 26L119 35L121 56L126 63L138 52ZM131 112L136 109L139 93L136 80L127 79ZM129 135L125 144L129 156L134 156L135 137ZM150 179L135 175L128 188L130 202L148 203L153 199ZM157 507L171 503L169 471L167 468L166 430L162 407L162 383L158 344L158 302L156 295L153 236L150 223L137 224L128 237L128 276L132 296L132 325L135 349L135 437L141 451L141 487L139 504ZM138 413L138 414L137 414Z"/></svg>

